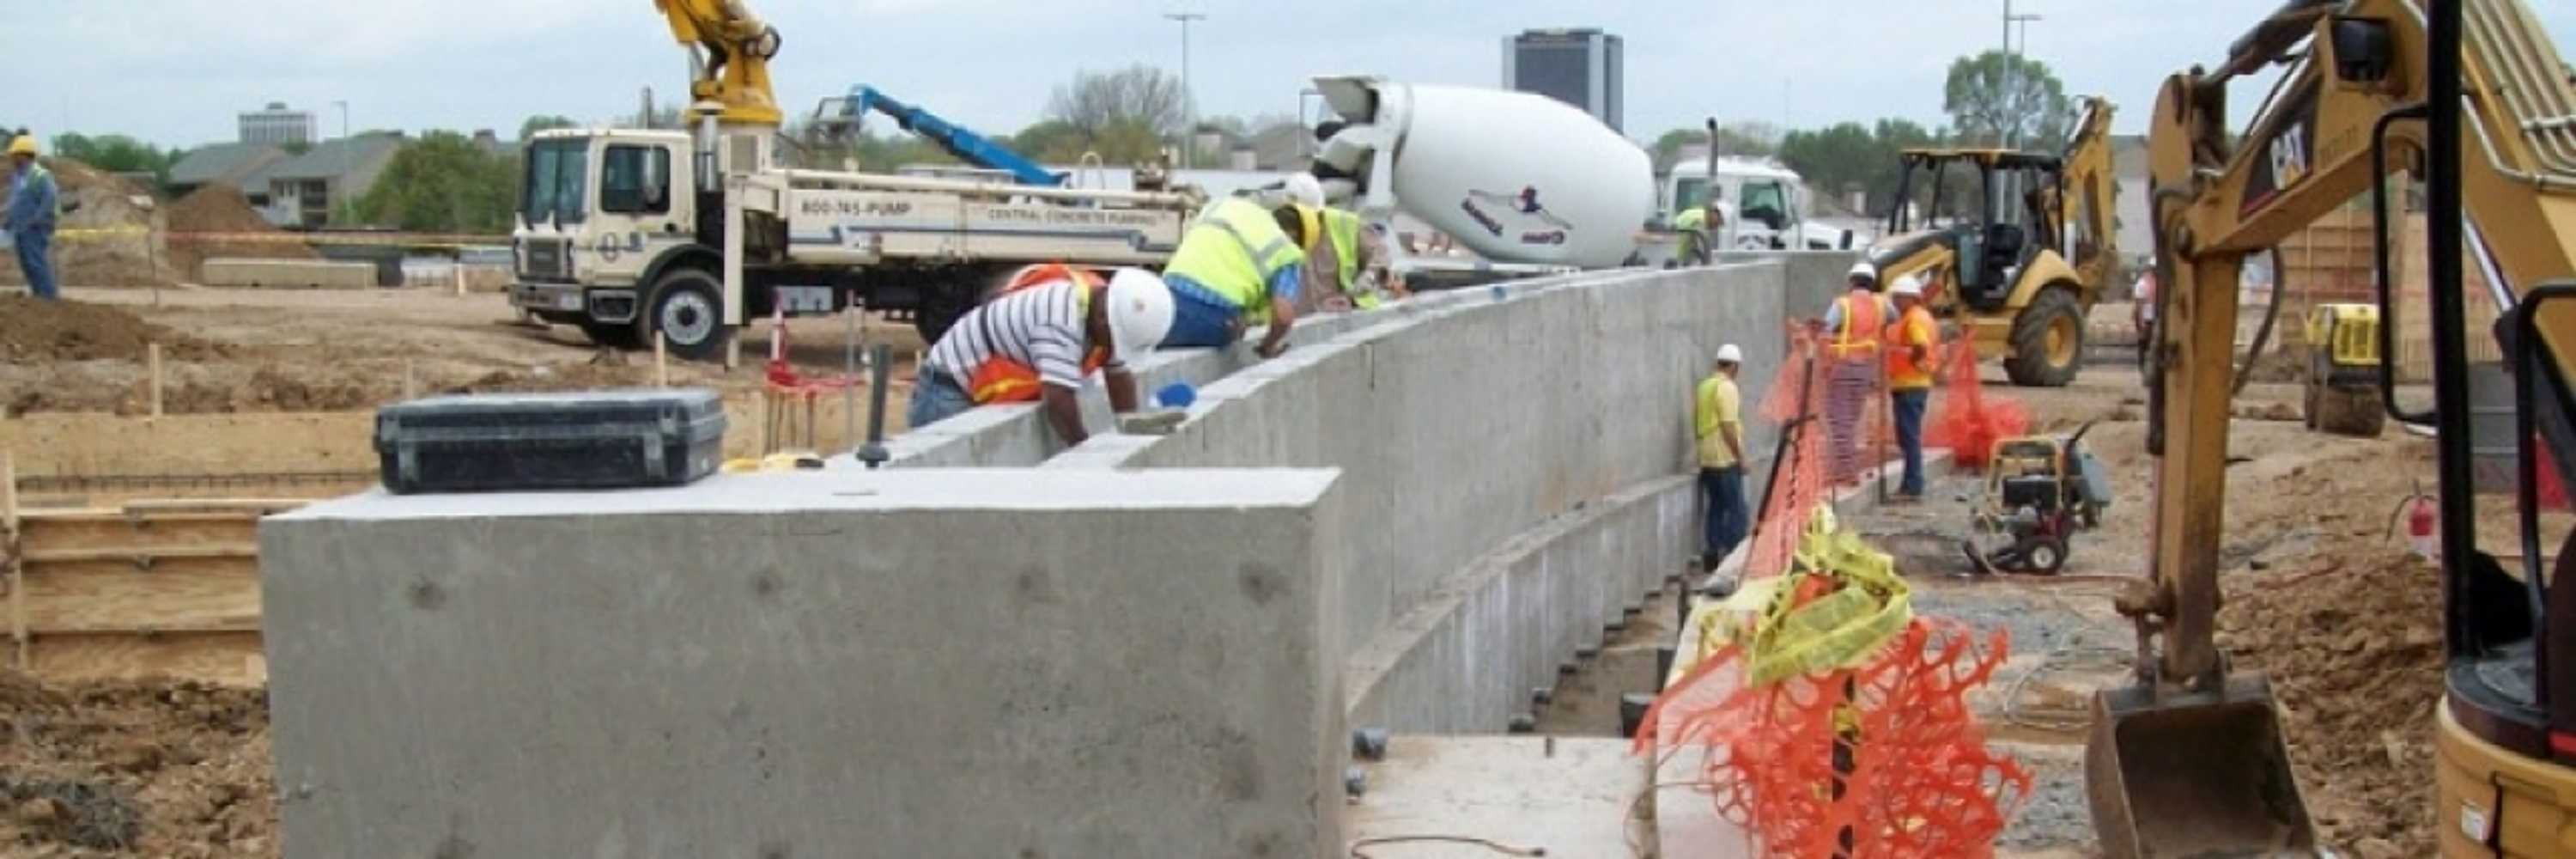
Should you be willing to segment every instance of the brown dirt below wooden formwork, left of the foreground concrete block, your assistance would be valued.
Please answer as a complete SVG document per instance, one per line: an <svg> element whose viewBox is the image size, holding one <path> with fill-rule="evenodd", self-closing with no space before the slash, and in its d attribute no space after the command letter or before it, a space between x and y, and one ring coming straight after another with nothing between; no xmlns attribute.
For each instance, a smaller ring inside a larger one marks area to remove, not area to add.
<svg viewBox="0 0 2576 859"><path fill-rule="evenodd" d="M201 684L41 686L0 673L0 844L13 856L276 856L268 699Z"/></svg>

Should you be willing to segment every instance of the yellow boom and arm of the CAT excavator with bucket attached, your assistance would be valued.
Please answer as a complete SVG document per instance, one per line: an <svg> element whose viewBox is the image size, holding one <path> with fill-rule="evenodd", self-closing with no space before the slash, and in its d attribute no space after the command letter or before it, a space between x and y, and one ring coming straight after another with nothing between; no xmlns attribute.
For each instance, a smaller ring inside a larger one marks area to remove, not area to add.
<svg viewBox="0 0 2576 859"><path fill-rule="evenodd" d="M2164 856L2190 849L2215 854L2280 846L2282 838L2295 846L2306 838L2306 810L2295 805L2298 789L2287 776L2269 686L2259 676L2231 678L2213 640L2221 604L2218 549L2226 516L2239 273L2249 253L2272 248L2365 191L2372 193L2380 204L2375 212L2380 343L2383 353L2391 353L2388 333L2398 325L2398 310L2391 307L2388 286L2391 206L2383 178L2396 170L2414 173L2432 188L2427 209L2437 235L2429 255L2434 268L2429 320L2439 408L2398 418L2434 423L2442 449L2442 562L2452 655L2447 715L2463 712L2458 696L2463 663L2517 645L2532 653L2532 632L2543 624L2540 606L2548 601L2537 568L2527 570L2522 583L2506 586L2514 609L2504 614L2519 619L2494 624L2496 611L2486 611L2481 622L2478 611L2463 609L2478 601L2494 604L2494 586L2486 586L2483 596L2473 593L2481 588L2481 570L2473 565L2494 568L2494 560L2476 552L2465 392L2465 338L2481 335L2488 320L2465 320L2460 268L2445 271L2445 261L2463 255L2445 250L2439 235L2445 224L2458 224L2460 242L2452 248L2465 248L2465 263L2478 266L2504 320L2532 317L2532 335L2522 338L2527 351L2509 353L2532 356L2517 369L2519 387L2545 397L2527 402L2524 415L2537 415L2540 436L2566 451L2571 418L2566 379L2576 379L2576 364L2568 364L2576 359L2576 299L2543 299L2566 289L2545 286L2548 281L2576 276L2576 124L2571 124L2576 85L2522 0L2455 0L2434 5L2432 13L2458 15L2458 28L2427 18L2427 8L2416 0L2293 0L2239 39L2226 64L2192 67L2169 77L2159 93L2148 132L2148 209L2161 284L2159 335L2151 346L2159 379L2148 402L2148 451L2159 457L2148 526L2154 578L2117 598L2117 609L2138 624L2141 678L2136 689L2097 696L2094 738L2087 748L2094 823L2112 856ZM2287 67L2275 95L2241 139L2228 137L2226 85L2272 64ZM2442 163L2445 152L2458 155L2458 168ZM2519 307L2522 302L2532 307ZM2494 330L2501 335L2504 328ZM2391 371L2393 361L2383 361L2383 405L2396 410ZM2524 449L2524 475L2532 459ZM2561 464L2568 459L2576 457L2558 457ZM2530 537L2524 542L2530 544ZM2527 555L2537 562L2540 552ZM2512 593L2524 586L2527 598ZM2540 660L2548 663L2548 655L2543 650ZM2558 655L2576 668L2576 653ZM2524 655L2524 666L2530 663ZM2527 686L2543 691L2535 702L2517 704L2519 717L2501 722L2543 720L2558 709L2576 727L2576 689L2563 702L2548 702L2545 681ZM2483 722L2499 725L2496 712L2486 709ZM2254 733L2267 733L2269 740L2251 738ZM2499 743L2494 735L2486 740ZM2501 745L2537 751L2545 761L2550 743ZM2146 748L2205 753L2197 764L2156 771L2156 761L2136 756ZM2254 769L2244 771L2223 761L2259 764L2244 764ZM2267 787L2246 792L2228 784ZM2228 802L2213 805L2210 797L2269 807L2221 807ZM2174 802L2187 813L2156 807L2159 802Z"/></svg>

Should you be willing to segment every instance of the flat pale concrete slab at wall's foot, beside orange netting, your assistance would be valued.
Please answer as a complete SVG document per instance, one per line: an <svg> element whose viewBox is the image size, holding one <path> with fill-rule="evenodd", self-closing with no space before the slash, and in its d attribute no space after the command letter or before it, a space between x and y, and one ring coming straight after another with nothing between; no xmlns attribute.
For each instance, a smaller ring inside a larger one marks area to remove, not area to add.
<svg viewBox="0 0 2576 859"><path fill-rule="evenodd" d="M1363 764L1350 805L1355 856L1492 859L1494 849L1422 836L1484 838L1546 856L1638 856L1651 846L1641 795L1649 761L1607 738L1396 735ZM1406 838L1381 841L1376 838ZM1419 838L1419 841L1414 841Z"/></svg>

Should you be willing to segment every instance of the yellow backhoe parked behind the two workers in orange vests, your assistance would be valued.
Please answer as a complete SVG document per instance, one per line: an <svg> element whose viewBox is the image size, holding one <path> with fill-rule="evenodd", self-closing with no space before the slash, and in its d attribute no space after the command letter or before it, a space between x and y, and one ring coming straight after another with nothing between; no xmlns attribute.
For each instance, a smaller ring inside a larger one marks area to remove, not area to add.
<svg viewBox="0 0 2576 859"><path fill-rule="evenodd" d="M2084 366L2084 315L2117 261L2105 98L2087 95L2063 155L1904 150L1888 237L1870 248L1878 281L1942 284L1932 312L1960 317L2012 384L2061 387ZM1968 181L1965 188L1960 188ZM1973 193L1971 201L1945 199ZM1940 219L1965 209L1968 217ZM1917 219L1919 217L1919 219Z"/></svg>

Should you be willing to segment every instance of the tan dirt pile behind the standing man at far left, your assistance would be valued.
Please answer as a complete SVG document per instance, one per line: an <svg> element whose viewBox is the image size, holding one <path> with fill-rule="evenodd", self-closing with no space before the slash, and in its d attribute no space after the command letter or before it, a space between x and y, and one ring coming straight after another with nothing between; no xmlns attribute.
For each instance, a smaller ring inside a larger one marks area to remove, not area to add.
<svg viewBox="0 0 2576 859"><path fill-rule="evenodd" d="M70 157L46 157L62 214L54 232L54 281L64 286L152 286L173 284L170 253L162 245L162 214L139 206L152 191ZM23 286L15 258L0 266L0 284Z"/></svg>

